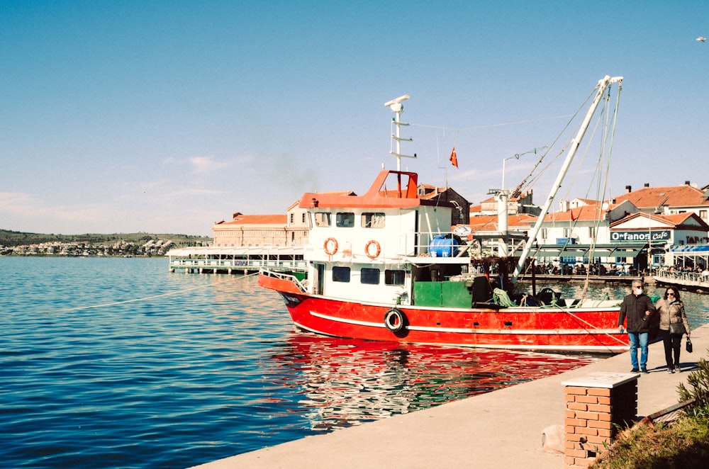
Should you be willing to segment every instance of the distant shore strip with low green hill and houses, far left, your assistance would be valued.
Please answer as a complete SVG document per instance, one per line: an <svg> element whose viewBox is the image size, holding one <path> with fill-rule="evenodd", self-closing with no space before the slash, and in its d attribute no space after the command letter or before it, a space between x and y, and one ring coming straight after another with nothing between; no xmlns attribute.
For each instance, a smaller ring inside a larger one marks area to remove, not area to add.
<svg viewBox="0 0 709 469"><path fill-rule="evenodd" d="M211 237L157 233L54 235L0 230L0 256L164 256L174 247L208 246Z"/></svg>

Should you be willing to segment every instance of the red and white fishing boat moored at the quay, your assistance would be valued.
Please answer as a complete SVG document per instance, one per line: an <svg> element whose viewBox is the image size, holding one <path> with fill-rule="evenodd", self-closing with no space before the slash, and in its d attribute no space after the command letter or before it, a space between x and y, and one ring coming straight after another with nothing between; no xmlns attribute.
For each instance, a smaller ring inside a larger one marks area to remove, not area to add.
<svg viewBox="0 0 709 469"><path fill-rule="evenodd" d="M604 92L621 80L598 82L596 98L571 142L566 169ZM396 124L406 98L387 103ZM398 146L393 154L403 156ZM335 337L418 344L627 351L627 337L617 326L619 300L563 300L548 289L532 297L493 288L489 275L473 272L465 241L459 243L451 233L453 206L420 198L417 174L398 168L381 171L362 196L306 193L301 198L299 206L312 221L304 252L306 277L262 270L258 280L281 294L297 327ZM554 184L559 186L560 179ZM513 281L525 266L539 225L530 233ZM497 260L503 271L505 264Z"/></svg>

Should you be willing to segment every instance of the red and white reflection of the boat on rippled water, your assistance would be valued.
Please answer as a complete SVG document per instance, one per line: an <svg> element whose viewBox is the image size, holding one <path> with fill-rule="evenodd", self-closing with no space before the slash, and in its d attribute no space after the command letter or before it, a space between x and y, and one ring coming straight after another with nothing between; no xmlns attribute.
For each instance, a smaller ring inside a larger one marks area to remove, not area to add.
<svg viewBox="0 0 709 469"><path fill-rule="evenodd" d="M311 429L330 431L544 378L591 355L465 349L296 332L274 354ZM283 368L286 368L285 370ZM288 370L287 368L291 368ZM299 390L298 390L299 388Z"/></svg>

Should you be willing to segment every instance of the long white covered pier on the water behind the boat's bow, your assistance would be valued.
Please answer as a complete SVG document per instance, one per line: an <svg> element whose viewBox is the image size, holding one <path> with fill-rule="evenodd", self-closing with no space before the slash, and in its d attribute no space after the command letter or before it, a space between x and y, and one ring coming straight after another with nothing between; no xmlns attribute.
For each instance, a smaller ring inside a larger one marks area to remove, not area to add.
<svg viewBox="0 0 709 469"><path fill-rule="evenodd" d="M170 272L246 274L268 267L279 272L304 272L302 246L187 247L171 249Z"/></svg>

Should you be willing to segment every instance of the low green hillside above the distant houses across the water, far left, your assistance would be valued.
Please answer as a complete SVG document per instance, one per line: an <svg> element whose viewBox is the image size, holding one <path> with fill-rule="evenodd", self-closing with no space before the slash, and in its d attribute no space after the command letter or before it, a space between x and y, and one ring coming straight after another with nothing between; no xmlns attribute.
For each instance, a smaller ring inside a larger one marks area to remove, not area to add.
<svg viewBox="0 0 709 469"><path fill-rule="evenodd" d="M99 235L96 233L86 233L86 235L43 235L40 233L25 233L18 231L0 230L0 246L14 247L28 244L39 244L46 242L82 242L88 244L114 244L116 242L133 242L144 244L150 240L161 239L170 240L178 247L194 246L203 242L211 242L211 237L192 235L172 235L155 233L113 233L111 235Z"/></svg>

